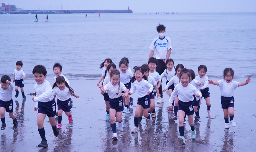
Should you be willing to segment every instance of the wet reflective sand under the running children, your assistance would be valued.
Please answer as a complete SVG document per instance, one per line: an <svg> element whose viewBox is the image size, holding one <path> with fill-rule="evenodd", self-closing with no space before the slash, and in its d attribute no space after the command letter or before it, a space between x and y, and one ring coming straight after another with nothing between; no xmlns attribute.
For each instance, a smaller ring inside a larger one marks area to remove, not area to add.
<svg viewBox="0 0 256 152"><path fill-rule="evenodd" d="M214 81L219 79L211 78ZM53 84L53 78L47 80ZM37 112L33 111L35 103L33 96L27 96L27 100L22 100L21 95L15 98L14 114L19 124L18 129L13 129L13 121L5 113L6 129L0 130L1 152L232 152L232 151L253 151L256 149L256 112L255 112L255 80L252 80L246 86L238 87L235 90L235 117L236 127L230 125L229 129L224 128L224 114L220 103L220 89L218 86L209 84L212 116L207 117L206 103L202 100L199 115L199 123L195 123L197 137L191 140L190 125L186 123L185 138L186 145L178 143L178 120L170 119L174 113L169 111L169 96L164 93L164 103L157 104L156 118L153 119L152 126L148 126L143 117L141 125L139 124L138 133L132 134L134 127L134 112L136 109L137 95L134 98L134 105L131 106L131 114L123 113L123 129L117 130L118 140L112 140L112 130L110 122L105 121L105 102L100 90L96 86L98 79L69 79L71 87L79 98L72 97L73 122L68 122L68 117L63 113L62 129L60 135L53 135L52 127L46 117L44 122L45 136L48 142L48 148L39 148L41 142L37 130ZM235 81L245 81L235 79ZM26 79L24 91L25 94L34 92L35 81ZM165 86L165 83L162 83ZM57 121L57 117L56 117Z"/></svg>

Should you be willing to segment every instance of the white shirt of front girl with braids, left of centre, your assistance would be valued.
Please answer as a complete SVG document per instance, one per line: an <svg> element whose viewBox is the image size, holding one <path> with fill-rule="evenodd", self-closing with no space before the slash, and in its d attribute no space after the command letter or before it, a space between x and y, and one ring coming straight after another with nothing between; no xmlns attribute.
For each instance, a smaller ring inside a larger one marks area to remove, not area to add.
<svg viewBox="0 0 256 152"><path fill-rule="evenodd" d="M121 97L121 95L122 95L122 91L123 91L123 92L126 91L125 85L124 85L122 82L120 82L120 88L119 88L120 92L119 92L119 94L117 95L118 87L119 87L118 84L116 84L115 86L113 86L113 85L112 85L112 82L109 82L108 84L106 84L106 85L104 86L105 91L107 91L107 92L109 93L109 98L110 98L110 99L119 98L119 97Z"/></svg>

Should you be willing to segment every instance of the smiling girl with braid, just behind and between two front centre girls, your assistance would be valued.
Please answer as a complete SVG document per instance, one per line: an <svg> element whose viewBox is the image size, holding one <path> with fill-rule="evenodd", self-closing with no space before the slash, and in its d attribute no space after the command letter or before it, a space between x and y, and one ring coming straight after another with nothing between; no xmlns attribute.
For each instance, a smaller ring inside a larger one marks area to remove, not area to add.
<svg viewBox="0 0 256 152"><path fill-rule="evenodd" d="M130 91L130 89L131 89L131 78L133 77L133 74L131 74L131 72L129 70L127 70L128 64L127 64L126 60L121 60L119 62L119 68L120 69L118 71L120 72L120 82L125 84L126 89L128 89L128 91ZM122 93L124 93L124 92L122 92ZM125 108L123 110L123 113L130 114L129 102L130 102L130 97L129 96L123 98L123 103L125 104Z"/></svg>

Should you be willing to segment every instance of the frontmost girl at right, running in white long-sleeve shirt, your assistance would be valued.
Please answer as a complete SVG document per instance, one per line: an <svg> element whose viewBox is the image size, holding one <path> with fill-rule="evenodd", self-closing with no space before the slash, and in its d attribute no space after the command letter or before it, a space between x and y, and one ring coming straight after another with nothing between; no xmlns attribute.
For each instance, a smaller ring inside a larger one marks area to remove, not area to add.
<svg viewBox="0 0 256 152"><path fill-rule="evenodd" d="M180 136L178 137L178 142L181 144L186 144L185 142L185 136L184 136L184 126L183 126L183 118L185 114L188 115L188 123L190 124L191 128L191 137L192 139L196 138L196 130L194 127L193 122L193 115L194 115L194 109L193 109L193 100L195 97L201 97L201 92L196 89L192 84L190 84L190 72L184 68L180 71L180 82L175 86L172 95L169 100L169 109L172 107L172 101L173 99L178 95L179 101L179 109L178 109L178 116L179 116L179 132Z"/></svg>

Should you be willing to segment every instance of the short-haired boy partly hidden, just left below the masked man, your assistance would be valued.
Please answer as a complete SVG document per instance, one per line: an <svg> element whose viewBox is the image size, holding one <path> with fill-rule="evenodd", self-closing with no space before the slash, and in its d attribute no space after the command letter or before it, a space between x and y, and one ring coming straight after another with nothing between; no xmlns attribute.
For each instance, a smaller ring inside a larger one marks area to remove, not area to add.
<svg viewBox="0 0 256 152"><path fill-rule="evenodd" d="M157 87L159 88L160 85L161 85L161 78L160 78L159 73L157 73L155 71L155 69L157 67L157 59L154 58L154 57L149 58L148 64L149 64L149 75L154 78L154 80L157 82ZM156 93L156 89L155 88L153 90L153 93L154 93L154 98L156 98L157 93ZM153 118L156 117L156 109L154 109L152 111L151 115L152 115Z"/></svg>

